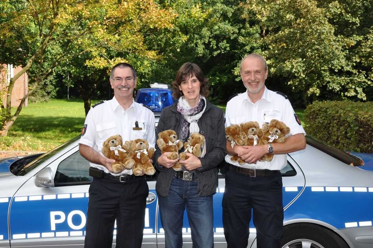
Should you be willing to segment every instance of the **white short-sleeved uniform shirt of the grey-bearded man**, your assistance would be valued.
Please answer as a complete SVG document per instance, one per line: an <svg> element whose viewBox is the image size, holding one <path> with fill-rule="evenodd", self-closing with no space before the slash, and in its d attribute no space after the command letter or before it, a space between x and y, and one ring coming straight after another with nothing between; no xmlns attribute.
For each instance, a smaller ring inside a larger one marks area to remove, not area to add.
<svg viewBox="0 0 373 248"><path fill-rule="evenodd" d="M265 86L264 86L265 87ZM304 133L302 125L298 124L295 118L294 109L288 99L284 96L264 89L263 96L256 103L251 102L250 97L245 93L233 97L226 106L225 127L233 124L241 124L248 121L257 121L261 128L264 123L269 123L272 119L277 119L290 127L290 133L287 137L297 133ZM272 161L257 162L256 164L240 165L238 162L232 162L231 156L226 155L225 161L244 168L258 170L281 170L286 166L286 154L275 154Z"/></svg>

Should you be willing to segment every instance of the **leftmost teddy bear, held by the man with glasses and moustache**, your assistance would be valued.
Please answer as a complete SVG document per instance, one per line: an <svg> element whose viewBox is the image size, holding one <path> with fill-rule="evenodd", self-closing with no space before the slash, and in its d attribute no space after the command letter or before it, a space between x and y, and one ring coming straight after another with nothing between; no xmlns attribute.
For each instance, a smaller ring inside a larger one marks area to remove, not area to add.
<svg viewBox="0 0 373 248"><path fill-rule="evenodd" d="M107 138L102 145L102 154L116 161L110 165L113 173L122 171L123 167L131 169L134 166L135 161L128 156L130 143L126 141L123 145L122 136L119 134Z"/></svg>

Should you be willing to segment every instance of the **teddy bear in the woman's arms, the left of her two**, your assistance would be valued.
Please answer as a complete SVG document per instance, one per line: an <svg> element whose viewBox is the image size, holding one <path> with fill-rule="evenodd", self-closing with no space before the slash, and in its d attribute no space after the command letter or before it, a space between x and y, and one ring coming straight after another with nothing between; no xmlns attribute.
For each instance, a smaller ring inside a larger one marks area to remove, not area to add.
<svg viewBox="0 0 373 248"><path fill-rule="evenodd" d="M183 142L178 140L176 132L173 130L164 130L158 134L157 145L162 151L162 154L165 152L172 152L167 155L168 159L176 159L179 157L179 150L183 147ZM176 162L172 166L173 170L181 171L182 167L179 162Z"/></svg>

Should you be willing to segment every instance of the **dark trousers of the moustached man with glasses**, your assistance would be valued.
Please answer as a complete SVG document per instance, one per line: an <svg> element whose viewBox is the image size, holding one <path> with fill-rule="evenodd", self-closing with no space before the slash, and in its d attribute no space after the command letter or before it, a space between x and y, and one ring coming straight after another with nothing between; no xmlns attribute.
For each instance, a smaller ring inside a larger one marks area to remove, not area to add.
<svg viewBox="0 0 373 248"><path fill-rule="evenodd" d="M84 247L111 248L116 220L116 247L140 248L148 193L144 176L128 182L93 178Z"/></svg>

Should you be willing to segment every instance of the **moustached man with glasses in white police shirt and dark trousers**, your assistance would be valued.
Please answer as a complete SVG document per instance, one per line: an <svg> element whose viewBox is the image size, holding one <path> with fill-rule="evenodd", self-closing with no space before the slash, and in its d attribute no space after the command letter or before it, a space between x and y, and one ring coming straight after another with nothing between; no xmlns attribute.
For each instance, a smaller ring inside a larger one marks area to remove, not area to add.
<svg viewBox="0 0 373 248"><path fill-rule="evenodd" d="M80 154L90 161L93 176L89 189L86 248L111 248L116 220L116 247L141 247L144 231L148 185L143 176L132 170L112 173L114 159L101 152L103 142L120 134L123 142L145 139L150 146L156 142L153 112L134 101L135 69L128 63L115 65L110 74L114 89L112 100L101 102L88 112L79 141ZM153 162L153 161L150 161Z"/></svg>

